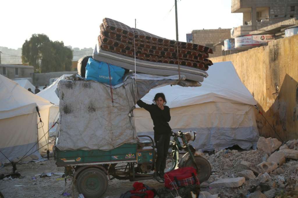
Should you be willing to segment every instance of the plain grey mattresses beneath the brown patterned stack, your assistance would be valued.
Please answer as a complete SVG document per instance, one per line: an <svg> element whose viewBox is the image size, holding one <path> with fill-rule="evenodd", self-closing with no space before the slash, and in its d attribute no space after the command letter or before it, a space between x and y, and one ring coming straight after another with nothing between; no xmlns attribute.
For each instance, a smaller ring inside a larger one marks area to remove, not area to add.
<svg viewBox="0 0 298 198"><path fill-rule="evenodd" d="M121 66L125 69L135 70L136 63L136 72L145 73L145 74L153 74L153 75L178 75L179 66L176 64L166 64L166 63L155 63L150 61L144 61L140 59L135 59L119 55L117 53L109 52L100 49L98 46L95 46L93 52L93 59L97 61L103 61L109 64ZM180 75L185 75L186 79L194 80L197 82L203 82L204 77L207 77L208 74L206 71L182 66L180 65Z"/></svg>

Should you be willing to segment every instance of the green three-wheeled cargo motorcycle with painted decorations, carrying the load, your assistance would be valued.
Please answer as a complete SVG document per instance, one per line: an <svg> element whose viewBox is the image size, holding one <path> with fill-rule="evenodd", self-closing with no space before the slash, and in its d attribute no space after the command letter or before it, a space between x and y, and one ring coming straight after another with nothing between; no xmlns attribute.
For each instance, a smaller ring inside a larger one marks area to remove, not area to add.
<svg viewBox="0 0 298 198"><path fill-rule="evenodd" d="M196 132L192 131L172 133L165 172L179 167L194 167L200 182L208 180L211 175L208 160L196 155L196 149L189 144L189 141L195 140L195 136ZM123 144L109 151L60 151L55 147L56 164L58 167L65 167L65 176L73 176L77 191L84 197L101 197L108 187L108 180L116 178L137 181L155 178L155 143L148 135L139 135L138 139L135 144ZM179 151L186 152L181 160Z"/></svg>

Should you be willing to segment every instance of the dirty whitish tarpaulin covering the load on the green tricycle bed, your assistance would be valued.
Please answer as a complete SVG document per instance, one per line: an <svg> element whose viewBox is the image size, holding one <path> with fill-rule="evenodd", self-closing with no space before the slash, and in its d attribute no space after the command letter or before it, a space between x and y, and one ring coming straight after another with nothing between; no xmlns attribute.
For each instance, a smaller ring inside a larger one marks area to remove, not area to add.
<svg viewBox="0 0 298 198"><path fill-rule="evenodd" d="M136 82L128 77L121 86L114 86L113 103L110 86L92 80L60 80L60 131L56 147L60 150L110 150L125 143L136 143L133 117L136 100L160 85L200 85L185 80L179 82L177 76L173 78L176 80L168 77L153 80L152 77Z"/></svg>

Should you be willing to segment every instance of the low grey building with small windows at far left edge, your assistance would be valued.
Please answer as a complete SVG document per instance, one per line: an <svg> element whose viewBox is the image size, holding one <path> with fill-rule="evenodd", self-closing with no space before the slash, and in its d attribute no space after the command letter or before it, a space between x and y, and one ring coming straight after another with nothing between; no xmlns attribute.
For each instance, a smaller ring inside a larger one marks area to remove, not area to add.
<svg viewBox="0 0 298 198"><path fill-rule="evenodd" d="M0 64L0 74L9 78L32 78L34 67L26 65Z"/></svg>

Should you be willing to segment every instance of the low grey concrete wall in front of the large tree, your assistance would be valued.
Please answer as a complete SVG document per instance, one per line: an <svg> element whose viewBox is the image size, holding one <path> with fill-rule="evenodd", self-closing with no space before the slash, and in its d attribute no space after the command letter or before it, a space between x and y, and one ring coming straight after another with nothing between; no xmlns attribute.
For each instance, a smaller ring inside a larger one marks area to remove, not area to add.
<svg viewBox="0 0 298 198"><path fill-rule="evenodd" d="M50 78L58 78L63 74L76 74L77 71L71 72L49 72L49 73L34 73L33 84L35 86L49 85Z"/></svg>

